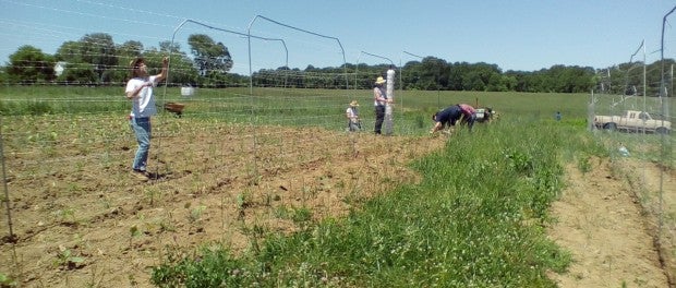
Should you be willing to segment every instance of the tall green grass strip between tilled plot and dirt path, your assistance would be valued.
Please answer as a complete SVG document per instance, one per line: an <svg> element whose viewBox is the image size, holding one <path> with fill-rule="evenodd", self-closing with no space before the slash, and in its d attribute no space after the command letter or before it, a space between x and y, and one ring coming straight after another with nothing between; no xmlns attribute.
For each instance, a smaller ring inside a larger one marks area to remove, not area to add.
<svg viewBox="0 0 676 288"><path fill-rule="evenodd" d="M153 281L207 287L218 271L218 285L238 286L555 287L545 272L565 271L570 255L543 227L565 185L562 163L603 151L582 131L519 118L460 131L413 165L424 176L419 184L345 219L270 235L238 257L217 247L169 259ZM215 255L229 261L205 263Z"/></svg>

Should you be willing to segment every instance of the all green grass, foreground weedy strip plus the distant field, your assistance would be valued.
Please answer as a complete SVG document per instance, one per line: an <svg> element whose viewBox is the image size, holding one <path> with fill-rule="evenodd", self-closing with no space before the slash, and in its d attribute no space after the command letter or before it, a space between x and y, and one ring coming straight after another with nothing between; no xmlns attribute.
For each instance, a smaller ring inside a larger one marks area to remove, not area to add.
<svg viewBox="0 0 676 288"><path fill-rule="evenodd" d="M252 96L248 88L228 88L182 97L178 87L160 87L157 93L159 104L184 103L183 117L204 127L226 121L342 130L351 99L362 105L367 130L373 119L371 91L256 88ZM289 212L304 229L266 235L257 249L238 256L228 247L208 243L193 253L165 251L164 262L153 269L154 285L555 287L545 273L565 271L570 255L546 238L543 227L553 220L547 208L565 187L562 165L589 169L590 156L613 154L605 142L623 142L647 159L661 156L659 149L636 148L648 141L636 135L588 133L583 94L397 93L396 134L424 136L431 113L456 103L478 101L502 117L478 124L472 134L460 130L445 149L413 164L424 176L420 183L373 199L346 218L312 223L310 211ZM52 115L72 117L76 129L87 117L114 119L129 107L122 87L0 87L0 113L11 117L3 120L10 125L5 131L17 133L10 147L58 141L61 131L49 130L47 120ZM556 111L563 121L554 121ZM603 141L605 135L609 141Z"/></svg>

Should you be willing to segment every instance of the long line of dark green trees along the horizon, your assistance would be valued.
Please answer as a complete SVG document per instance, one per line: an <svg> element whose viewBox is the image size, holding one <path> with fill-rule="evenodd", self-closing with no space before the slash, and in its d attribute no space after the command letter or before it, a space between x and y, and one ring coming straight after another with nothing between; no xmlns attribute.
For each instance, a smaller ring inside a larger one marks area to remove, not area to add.
<svg viewBox="0 0 676 288"><path fill-rule="evenodd" d="M55 83L68 85L120 85L129 79L129 63L144 57L149 68L160 67L161 58L171 56L171 85L208 87L255 86L294 88L371 88L373 80L383 75L387 64L369 65L346 63L341 67L305 69L262 69L249 75L229 73L233 64L228 48L208 35L193 34L188 38L190 55L179 44L160 41L158 47L144 48L129 40L114 44L105 33L83 36L80 40L63 43L55 55L44 53L33 46L22 46L0 67L2 84ZM436 57L409 61L398 71L397 88L419 91L483 91L531 93L589 93L642 94L647 83L648 96L659 93L664 65L655 61L623 63L594 69L579 65L553 65L539 71L503 71L496 64L484 62L447 62ZM643 73L645 71L645 73ZM669 70L671 71L671 70Z"/></svg>

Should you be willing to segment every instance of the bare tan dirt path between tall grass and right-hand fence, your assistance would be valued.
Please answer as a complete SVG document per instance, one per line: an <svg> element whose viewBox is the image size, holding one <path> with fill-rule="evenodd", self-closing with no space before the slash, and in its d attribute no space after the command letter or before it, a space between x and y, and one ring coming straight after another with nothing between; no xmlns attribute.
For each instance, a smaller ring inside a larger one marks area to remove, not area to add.
<svg viewBox="0 0 676 288"><path fill-rule="evenodd" d="M567 274L551 278L563 288L669 287L653 225L629 183L608 160L592 165L587 173L567 167L568 188L552 207L558 223L550 236L572 253L574 263Z"/></svg>

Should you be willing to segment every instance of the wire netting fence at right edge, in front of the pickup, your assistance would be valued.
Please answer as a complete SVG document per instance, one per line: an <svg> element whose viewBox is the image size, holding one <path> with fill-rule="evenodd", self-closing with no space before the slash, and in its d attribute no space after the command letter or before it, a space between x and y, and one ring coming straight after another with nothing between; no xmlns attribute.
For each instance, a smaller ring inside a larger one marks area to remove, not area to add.
<svg viewBox="0 0 676 288"><path fill-rule="evenodd" d="M669 278L674 279L674 65L661 59L648 60L643 43L631 59L641 52L643 61L600 71L599 86L589 98L588 124L608 147L615 169L613 177L631 185L643 212L650 216L649 230L655 239L655 249Z"/></svg>

